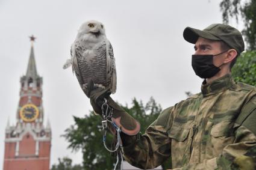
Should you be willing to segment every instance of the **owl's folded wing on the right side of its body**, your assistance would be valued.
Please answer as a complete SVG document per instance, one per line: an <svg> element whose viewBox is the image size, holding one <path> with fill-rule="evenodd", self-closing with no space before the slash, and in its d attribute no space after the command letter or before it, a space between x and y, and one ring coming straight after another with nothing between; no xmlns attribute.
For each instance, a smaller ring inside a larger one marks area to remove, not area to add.
<svg viewBox="0 0 256 170"><path fill-rule="evenodd" d="M116 64L114 62L113 47L110 41L106 40L106 59L107 59L107 82L112 94L116 93Z"/></svg>

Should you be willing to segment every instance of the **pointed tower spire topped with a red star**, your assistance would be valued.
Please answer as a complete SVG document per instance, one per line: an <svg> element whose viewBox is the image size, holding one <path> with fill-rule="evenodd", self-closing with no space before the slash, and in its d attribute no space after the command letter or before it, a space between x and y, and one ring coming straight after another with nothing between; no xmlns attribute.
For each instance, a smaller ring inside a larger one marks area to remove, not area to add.
<svg viewBox="0 0 256 170"><path fill-rule="evenodd" d="M34 35L30 36L31 41L31 50L30 50L30 59L28 60L28 68L27 68L27 77L37 77L37 69L36 69L36 60L34 57L34 47L33 42L36 40L36 37Z"/></svg>

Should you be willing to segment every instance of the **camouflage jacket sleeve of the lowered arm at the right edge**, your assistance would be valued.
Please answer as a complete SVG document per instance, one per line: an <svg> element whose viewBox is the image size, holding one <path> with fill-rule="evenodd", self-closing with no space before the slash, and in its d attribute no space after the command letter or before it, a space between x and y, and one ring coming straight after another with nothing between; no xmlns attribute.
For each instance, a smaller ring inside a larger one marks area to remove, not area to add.
<svg viewBox="0 0 256 170"><path fill-rule="evenodd" d="M256 100L242 110L234 125L235 141L222 154L202 163L189 163L178 169L256 169Z"/></svg>

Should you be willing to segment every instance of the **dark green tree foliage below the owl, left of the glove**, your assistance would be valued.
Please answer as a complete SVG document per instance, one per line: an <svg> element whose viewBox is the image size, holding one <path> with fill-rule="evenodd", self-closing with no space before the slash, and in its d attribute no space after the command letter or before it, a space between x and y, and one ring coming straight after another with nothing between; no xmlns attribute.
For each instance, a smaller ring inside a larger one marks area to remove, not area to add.
<svg viewBox="0 0 256 170"><path fill-rule="evenodd" d="M84 118L73 118L75 124L66 129L63 136L69 142L68 148L82 151L84 169L113 168L114 159L102 145L101 117L91 112ZM111 143L109 134L107 134L107 144Z"/></svg>

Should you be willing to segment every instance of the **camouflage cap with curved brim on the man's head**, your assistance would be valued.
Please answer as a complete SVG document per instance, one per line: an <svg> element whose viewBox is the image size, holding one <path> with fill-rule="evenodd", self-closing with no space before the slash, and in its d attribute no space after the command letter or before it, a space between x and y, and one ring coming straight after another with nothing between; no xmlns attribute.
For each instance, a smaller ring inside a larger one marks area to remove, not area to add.
<svg viewBox="0 0 256 170"><path fill-rule="evenodd" d="M203 30L187 27L184 29L183 37L189 43L195 44L198 37L206 38L208 40L222 40L233 49L237 50L237 53L245 50L245 43L240 31L236 28L225 25L222 23L214 23Z"/></svg>

